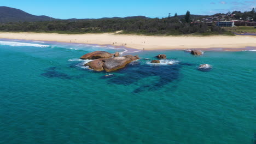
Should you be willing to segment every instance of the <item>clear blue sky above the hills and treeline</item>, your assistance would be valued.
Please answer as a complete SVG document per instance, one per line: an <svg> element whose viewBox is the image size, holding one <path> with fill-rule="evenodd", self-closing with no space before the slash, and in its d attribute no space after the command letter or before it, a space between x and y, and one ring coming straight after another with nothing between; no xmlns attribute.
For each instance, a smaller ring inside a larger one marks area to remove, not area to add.
<svg viewBox="0 0 256 144"><path fill-rule="evenodd" d="M0 6L12 7L33 15L57 19L86 19L143 15L167 17L168 13L212 15L228 11L251 11L256 0L0 0Z"/></svg>

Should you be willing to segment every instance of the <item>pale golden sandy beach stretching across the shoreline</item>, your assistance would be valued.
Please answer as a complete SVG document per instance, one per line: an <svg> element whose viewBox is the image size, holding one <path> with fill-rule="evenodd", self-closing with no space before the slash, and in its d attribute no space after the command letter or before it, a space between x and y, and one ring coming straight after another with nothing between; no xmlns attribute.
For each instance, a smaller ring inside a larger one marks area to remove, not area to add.
<svg viewBox="0 0 256 144"><path fill-rule="evenodd" d="M99 45L126 46L142 50L181 50L181 49L209 49L209 48L231 48L241 49L246 46L256 46L255 36L143 36L125 35L116 33L104 34L57 34L57 33L13 33L0 32L0 38L24 39L41 41L59 41L67 43L86 43Z"/></svg>

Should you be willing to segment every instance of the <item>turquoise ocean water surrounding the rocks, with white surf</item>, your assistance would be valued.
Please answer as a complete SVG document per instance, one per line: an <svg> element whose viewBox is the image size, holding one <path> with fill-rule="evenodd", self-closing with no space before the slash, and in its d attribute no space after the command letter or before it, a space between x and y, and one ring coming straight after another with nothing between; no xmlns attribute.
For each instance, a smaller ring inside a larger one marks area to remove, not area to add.
<svg viewBox="0 0 256 144"><path fill-rule="evenodd" d="M105 76L79 60L96 50L117 51L0 40L0 143L256 143L255 51L118 49L142 59Z"/></svg>

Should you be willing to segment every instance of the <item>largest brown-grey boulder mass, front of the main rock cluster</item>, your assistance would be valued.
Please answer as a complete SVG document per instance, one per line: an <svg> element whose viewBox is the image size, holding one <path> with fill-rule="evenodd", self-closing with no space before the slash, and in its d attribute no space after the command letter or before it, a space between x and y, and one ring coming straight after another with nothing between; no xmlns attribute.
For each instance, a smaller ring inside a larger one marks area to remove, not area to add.
<svg viewBox="0 0 256 144"><path fill-rule="evenodd" d="M138 56L127 55L124 57L112 57L112 58L100 58L89 63L86 63L85 66L88 66L90 69L95 71L114 71L121 68L124 68L127 64L132 61L139 59Z"/></svg>

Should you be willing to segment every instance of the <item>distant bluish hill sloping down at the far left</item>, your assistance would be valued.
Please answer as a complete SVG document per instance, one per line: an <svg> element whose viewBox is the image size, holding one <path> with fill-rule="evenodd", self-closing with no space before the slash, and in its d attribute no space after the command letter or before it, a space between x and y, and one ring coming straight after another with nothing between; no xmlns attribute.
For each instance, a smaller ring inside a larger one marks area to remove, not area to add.
<svg viewBox="0 0 256 144"><path fill-rule="evenodd" d="M0 22L18 22L18 21L53 21L59 20L53 17L41 15L31 15L20 9L0 7Z"/></svg>

